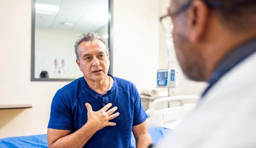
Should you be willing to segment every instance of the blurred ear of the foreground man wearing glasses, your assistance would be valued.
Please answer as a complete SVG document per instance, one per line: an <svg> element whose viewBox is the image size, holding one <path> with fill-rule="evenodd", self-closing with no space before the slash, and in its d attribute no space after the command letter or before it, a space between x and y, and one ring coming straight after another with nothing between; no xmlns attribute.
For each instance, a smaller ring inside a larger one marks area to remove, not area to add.
<svg viewBox="0 0 256 148"><path fill-rule="evenodd" d="M192 43L197 43L205 33L209 9L202 0L194 0L188 12L187 22L189 23L189 39Z"/></svg>

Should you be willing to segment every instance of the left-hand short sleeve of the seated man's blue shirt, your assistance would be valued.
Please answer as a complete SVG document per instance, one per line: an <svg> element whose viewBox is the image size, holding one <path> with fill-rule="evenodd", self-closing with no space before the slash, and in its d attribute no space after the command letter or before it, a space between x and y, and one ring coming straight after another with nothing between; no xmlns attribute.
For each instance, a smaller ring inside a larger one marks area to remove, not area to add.
<svg viewBox="0 0 256 148"><path fill-rule="evenodd" d="M54 95L51 102L51 114L48 128L51 129L73 129L73 117L71 108L63 97L60 90Z"/></svg>

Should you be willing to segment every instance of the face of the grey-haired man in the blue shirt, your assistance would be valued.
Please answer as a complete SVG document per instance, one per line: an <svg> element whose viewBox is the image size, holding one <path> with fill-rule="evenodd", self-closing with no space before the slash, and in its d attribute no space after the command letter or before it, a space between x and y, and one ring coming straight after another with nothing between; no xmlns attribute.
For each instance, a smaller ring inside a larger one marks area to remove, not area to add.
<svg viewBox="0 0 256 148"><path fill-rule="evenodd" d="M86 81L101 81L107 77L110 63L102 41L82 42L78 46L78 53L77 65Z"/></svg>

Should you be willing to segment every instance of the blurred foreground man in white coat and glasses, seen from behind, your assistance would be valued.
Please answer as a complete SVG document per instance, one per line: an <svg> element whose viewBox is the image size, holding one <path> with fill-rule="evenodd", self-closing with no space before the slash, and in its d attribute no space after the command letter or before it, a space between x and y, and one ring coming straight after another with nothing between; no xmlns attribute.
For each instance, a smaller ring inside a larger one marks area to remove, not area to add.
<svg viewBox="0 0 256 148"><path fill-rule="evenodd" d="M158 147L256 148L256 0L171 0L168 12L183 72L209 86Z"/></svg>

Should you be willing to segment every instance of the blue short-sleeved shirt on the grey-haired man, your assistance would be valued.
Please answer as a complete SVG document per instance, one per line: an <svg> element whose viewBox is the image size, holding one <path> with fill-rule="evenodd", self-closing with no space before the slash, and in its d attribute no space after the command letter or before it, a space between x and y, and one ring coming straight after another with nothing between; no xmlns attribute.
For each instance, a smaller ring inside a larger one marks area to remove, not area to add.
<svg viewBox="0 0 256 148"><path fill-rule="evenodd" d="M59 89L52 99L48 128L75 132L87 122L85 103L89 103L93 111L99 111L112 103L111 108L117 106L115 112L120 113L110 120L116 125L98 130L84 148L132 148L132 127L143 123L147 114L134 84L113 76L112 78L112 88L103 95L92 90L83 77Z"/></svg>

